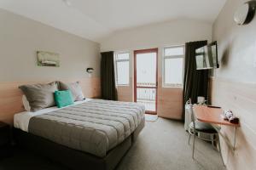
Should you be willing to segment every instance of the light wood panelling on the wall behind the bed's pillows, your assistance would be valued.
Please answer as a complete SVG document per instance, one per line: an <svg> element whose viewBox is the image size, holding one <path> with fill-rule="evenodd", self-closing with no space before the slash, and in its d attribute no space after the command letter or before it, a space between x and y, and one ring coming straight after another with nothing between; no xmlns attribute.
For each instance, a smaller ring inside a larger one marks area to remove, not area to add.
<svg viewBox="0 0 256 170"><path fill-rule="evenodd" d="M0 121L13 124L15 113L24 110L22 104L22 92L18 88L24 84L47 83L56 80L34 81L34 82L0 82ZM86 98L96 98L101 95L100 78L83 78L83 79L61 79L62 82L80 82Z"/></svg>

